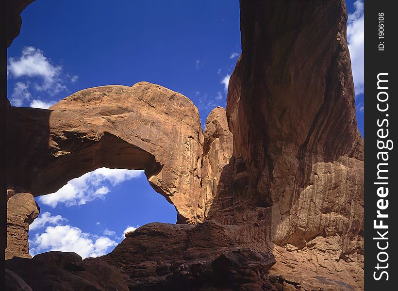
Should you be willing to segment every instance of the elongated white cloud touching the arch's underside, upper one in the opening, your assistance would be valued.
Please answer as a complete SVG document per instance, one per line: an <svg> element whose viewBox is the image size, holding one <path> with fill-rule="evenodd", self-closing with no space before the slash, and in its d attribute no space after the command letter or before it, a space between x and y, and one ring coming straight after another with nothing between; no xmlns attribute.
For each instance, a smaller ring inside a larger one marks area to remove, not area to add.
<svg viewBox="0 0 398 291"><path fill-rule="evenodd" d="M116 186L123 181L140 177L142 173L143 171L139 170L100 168L70 180L55 193L40 196L39 201L52 208L58 203L67 207L83 205L95 199L104 199L110 192L109 184Z"/></svg>

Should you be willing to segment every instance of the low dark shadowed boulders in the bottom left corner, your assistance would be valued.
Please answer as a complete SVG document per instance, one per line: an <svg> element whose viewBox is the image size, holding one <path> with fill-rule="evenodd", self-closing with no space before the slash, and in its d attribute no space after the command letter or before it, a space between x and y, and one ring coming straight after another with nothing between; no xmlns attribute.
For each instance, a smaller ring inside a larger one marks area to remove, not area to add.
<svg viewBox="0 0 398 291"><path fill-rule="evenodd" d="M129 290L117 268L99 260L93 263L93 260L82 260L76 253L53 251L32 259L9 259L6 268L21 277L33 291Z"/></svg>

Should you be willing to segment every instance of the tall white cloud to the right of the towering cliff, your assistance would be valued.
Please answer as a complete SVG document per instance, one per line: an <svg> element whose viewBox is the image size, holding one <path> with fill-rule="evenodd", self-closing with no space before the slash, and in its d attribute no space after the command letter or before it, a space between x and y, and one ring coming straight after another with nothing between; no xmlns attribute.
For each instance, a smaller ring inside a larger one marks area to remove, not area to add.
<svg viewBox="0 0 398 291"><path fill-rule="evenodd" d="M354 2L355 11L348 15L347 41L351 56L355 95L364 93L364 2Z"/></svg>

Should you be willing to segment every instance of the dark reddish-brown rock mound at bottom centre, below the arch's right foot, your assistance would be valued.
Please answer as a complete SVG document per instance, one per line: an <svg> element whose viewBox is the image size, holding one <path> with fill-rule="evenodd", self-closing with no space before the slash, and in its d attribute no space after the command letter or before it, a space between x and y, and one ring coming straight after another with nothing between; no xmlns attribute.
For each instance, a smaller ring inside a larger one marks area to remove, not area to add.
<svg viewBox="0 0 398 291"><path fill-rule="evenodd" d="M239 247L230 227L150 223L99 259L119 268L130 290L262 290L273 255Z"/></svg>

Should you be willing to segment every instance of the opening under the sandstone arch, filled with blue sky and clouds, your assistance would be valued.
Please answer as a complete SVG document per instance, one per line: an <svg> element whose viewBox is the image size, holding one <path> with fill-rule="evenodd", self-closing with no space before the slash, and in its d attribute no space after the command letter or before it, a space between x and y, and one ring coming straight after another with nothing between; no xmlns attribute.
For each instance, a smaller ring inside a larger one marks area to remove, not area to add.
<svg viewBox="0 0 398 291"><path fill-rule="evenodd" d="M29 254L75 252L83 259L111 252L125 233L150 222L175 223L177 211L142 170L99 168L35 198L40 215L29 226Z"/></svg>

